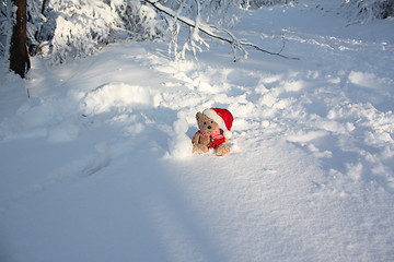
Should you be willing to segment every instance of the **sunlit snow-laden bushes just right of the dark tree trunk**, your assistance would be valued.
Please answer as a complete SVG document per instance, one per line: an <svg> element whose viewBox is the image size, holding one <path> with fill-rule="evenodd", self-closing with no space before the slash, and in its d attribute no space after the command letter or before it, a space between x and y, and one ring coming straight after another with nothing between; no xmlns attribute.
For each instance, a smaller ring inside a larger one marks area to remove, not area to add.
<svg viewBox="0 0 394 262"><path fill-rule="evenodd" d="M157 13L137 0L28 0L28 14L31 53L56 63L89 56L119 37L161 35Z"/></svg>

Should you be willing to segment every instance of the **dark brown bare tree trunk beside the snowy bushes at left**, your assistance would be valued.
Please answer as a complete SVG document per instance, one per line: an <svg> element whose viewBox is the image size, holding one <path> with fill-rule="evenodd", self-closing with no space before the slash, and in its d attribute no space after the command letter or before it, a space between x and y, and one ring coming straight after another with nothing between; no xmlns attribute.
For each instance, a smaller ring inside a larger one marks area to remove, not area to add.
<svg viewBox="0 0 394 262"><path fill-rule="evenodd" d="M26 0L13 0L13 3L18 10L10 45L10 69L24 78L31 68L26 47Z"/></svg>

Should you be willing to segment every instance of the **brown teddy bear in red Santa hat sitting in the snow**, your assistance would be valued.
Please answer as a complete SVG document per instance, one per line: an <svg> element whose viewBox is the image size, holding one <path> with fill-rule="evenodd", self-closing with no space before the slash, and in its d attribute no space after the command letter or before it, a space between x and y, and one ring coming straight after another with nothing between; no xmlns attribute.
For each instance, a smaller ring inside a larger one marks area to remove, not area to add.
<svg viewBox="0 0 394 262"><path fill-rule="evenodd" d="M196 114L199 130L192 139L194 153L207 153L210 148L218 156L230 153L230 146L225 142L231 138L231 127L234 120L231 112L222 108L209 108ZM220 126L224 122L227 131Z"/></svg>

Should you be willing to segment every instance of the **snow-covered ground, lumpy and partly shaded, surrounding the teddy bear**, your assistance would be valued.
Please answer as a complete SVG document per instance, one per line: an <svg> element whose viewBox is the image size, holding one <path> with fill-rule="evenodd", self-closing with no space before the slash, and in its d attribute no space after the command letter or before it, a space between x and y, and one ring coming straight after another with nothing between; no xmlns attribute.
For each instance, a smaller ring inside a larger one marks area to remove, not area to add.
<svg viewBox="0 0 394 262"><path fill-rule="evenodd" d="M0 261L394 261L394 21L316 5L234 28L301 60L118 43L2 66ZM225 157L190 153L212 106Z"/></svg>

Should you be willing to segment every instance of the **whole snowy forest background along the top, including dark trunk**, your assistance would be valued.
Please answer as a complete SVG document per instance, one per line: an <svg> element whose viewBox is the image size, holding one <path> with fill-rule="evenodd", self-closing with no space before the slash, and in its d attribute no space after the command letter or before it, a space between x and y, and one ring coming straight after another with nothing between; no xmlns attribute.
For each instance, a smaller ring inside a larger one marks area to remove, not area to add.
<svg viewBox="0 0 394 262"><path fill-rule="evenodd" d="M165 40L170 53L184 58L208 47L201 35L246 55L231 27L247 10L278 3L294 0L1 0L0 59L24 78L31 56L63 63L129 38ZM338 13L349 24L368 23L393 15L394 0L343 0Z"/></svg>

